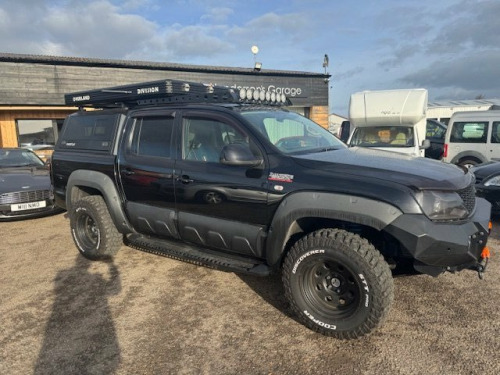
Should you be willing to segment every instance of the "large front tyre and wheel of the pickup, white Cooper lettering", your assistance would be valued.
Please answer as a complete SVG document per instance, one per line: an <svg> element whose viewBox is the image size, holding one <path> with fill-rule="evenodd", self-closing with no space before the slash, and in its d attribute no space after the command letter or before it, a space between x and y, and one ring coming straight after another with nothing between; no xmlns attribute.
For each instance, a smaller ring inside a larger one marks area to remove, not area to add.
<svg viewBox="0 0 500 375"><path fill-rule="evenodd" d="M354 339L378 327L394 298L389 265L367 240L322 229L295 243L282 273L294 313L310 329Z"/></svg>

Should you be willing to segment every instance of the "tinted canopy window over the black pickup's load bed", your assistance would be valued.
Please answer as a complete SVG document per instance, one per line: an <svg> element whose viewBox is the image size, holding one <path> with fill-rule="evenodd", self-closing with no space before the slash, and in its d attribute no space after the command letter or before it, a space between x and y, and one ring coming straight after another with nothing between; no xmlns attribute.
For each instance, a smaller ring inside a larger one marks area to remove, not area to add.
<svg viewBox="0 0 500 375"><path fill-rule="evenodd" d="M59 147L110 151L120 114L70 116L64 124Z"/></svg>

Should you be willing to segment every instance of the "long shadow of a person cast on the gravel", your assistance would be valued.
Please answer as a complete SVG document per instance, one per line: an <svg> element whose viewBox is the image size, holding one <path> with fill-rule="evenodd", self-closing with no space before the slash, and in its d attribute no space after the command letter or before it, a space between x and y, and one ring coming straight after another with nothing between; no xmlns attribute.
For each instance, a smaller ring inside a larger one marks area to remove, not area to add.
<svg viewBox="0 0 500 375"><path fill-rule="evenodd" d="M116 266L107 274L90 272L91 261L78 255L75 265L54 279L54 304L34 374L112 374L120 347L108 296L121 290Z"/></svg>

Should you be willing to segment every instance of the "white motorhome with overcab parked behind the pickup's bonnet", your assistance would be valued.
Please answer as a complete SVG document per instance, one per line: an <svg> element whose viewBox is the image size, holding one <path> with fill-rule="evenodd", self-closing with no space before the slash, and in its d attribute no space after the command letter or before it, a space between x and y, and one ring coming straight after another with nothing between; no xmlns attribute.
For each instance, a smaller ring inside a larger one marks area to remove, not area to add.
<svg viewBox="0 0 500 375"><path fill-rule="evenodd" d="M372 147L424 156L427 90L363 91L351 95L349 121L351 147Z"/></svg>

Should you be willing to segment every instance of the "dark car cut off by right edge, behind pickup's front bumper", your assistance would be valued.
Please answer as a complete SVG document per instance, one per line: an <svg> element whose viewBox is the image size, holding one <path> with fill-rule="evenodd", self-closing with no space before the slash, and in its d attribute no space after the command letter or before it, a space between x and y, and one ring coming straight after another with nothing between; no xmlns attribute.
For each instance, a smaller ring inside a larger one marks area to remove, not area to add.
<svg viewBox="0 0 500 375"><path fill-rule="evenodd" d="M476 176L476 195L491 203L491 211L500 214L500 162L492 161L472 167Z"/></svg>

